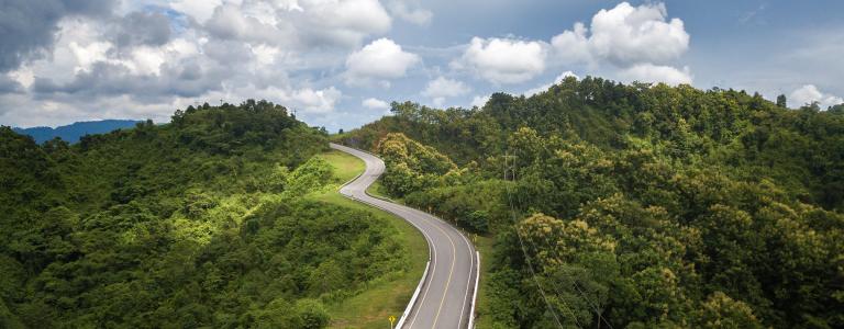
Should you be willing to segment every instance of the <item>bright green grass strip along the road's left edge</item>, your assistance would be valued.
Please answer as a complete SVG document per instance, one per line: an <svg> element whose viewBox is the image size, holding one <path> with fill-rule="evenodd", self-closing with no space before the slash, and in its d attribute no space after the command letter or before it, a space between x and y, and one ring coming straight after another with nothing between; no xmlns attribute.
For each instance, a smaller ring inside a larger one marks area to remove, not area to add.
<svg viewBox="0 0 844 329"><path fill-rule="evenodd" d="M338 183L355 178L364 171L364 162L353 156L332 150L321 155L334 168ZM341 195L336 189L315 193L314 197L338 206L370 212L396 228L396 239L410 251L406 271L389 280L370 283L367 290L343 302L327 305L332 328L389 328L389 316L399 318L419 284L427 262L427 242L422 234L404 219L387 212L364 205Z"/></svg>

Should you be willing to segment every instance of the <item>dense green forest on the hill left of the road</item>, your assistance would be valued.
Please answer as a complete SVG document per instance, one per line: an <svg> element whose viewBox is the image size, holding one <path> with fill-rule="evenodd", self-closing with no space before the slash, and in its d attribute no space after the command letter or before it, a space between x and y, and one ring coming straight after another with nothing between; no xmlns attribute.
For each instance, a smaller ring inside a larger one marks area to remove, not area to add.
<svg viewBox="0 0 844 329"><path fill-rule="evenodd" d="M322 328L407 252L268 102L37 145L0 127L0 328Z"/></svg>

